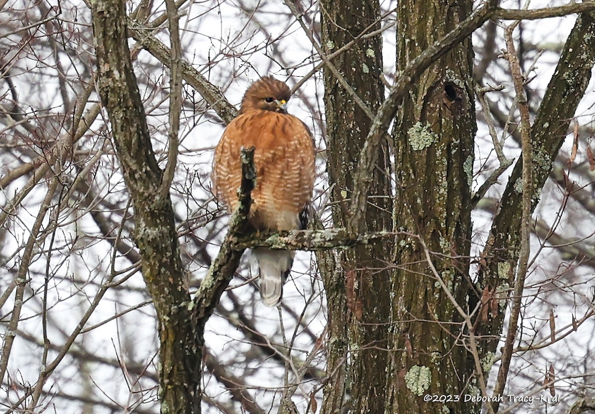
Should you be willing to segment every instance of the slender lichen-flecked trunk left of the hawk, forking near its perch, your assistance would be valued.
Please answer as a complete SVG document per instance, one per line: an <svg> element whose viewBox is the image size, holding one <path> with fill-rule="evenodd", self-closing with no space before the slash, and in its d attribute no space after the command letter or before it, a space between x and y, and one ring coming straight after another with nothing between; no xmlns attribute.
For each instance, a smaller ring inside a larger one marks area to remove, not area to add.
<svg viewBox="0 0 595 414"><path fill-rule="evenodd" d="M133 201L134 241L157 314L161 412L199 413L203 336L196 330L196 314L183 279L170 196L160 195L162 171L132 70L126 20L124 1L95 2L99 91Z"/></svg>

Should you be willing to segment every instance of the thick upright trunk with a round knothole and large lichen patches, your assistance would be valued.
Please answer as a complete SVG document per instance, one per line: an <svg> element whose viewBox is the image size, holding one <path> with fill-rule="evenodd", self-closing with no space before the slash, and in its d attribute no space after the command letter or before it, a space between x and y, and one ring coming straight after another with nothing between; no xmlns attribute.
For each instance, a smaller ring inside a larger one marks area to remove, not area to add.
<svg viewBox="0 0 595 414"><path fill-rule="evenodd" d="M399 1L397 68L454 29L471 8L468 0ZM403 99L394 125L395 229L411 236L397 243L392 255L394 352L386 412L479 409L462 397L456 401L455 396L476 393L478 387L463 319L444 289L463 305L472 288L472 56L468 39L431 65ZM452 396L452 401L427 402L426 394Z"/></svg>

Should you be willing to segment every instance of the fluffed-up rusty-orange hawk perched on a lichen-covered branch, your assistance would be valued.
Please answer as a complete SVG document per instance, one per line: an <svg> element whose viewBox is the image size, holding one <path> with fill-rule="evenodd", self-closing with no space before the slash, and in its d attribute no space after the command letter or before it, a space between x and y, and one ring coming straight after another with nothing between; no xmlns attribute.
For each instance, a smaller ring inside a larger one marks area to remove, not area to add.
<svg viewBox="0 0 595 414"><path fill-rule="evenodd" d="M242 166L240 149L256 147L256 187L248 216L258 231L305 229L314 188L314 140L306 124L286 112L289 87L264 77L246 90L240 114L227 125L215 148L212 182L228 211L237 207ZM274 306L283 295L294 252L252 249L262 302Z"/></svg>

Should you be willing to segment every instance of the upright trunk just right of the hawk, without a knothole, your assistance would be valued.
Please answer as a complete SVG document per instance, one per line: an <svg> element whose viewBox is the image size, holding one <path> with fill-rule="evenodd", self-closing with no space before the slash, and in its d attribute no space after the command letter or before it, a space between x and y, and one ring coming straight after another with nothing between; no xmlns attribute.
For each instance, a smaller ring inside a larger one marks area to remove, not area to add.
<svg viewBox="0 0 595 414"><path fill-rule="evenodd" d="M380 29L378 1L321 2L322 45L333 53L365 29ZM374 23L377 22L377 23ZM369 27L371 26L371 27ZM334 68L365 105L376 112L383 101L380 81L382 39L380 35L359 40L332 60ZM324 69L324 103L327 120L327 170L333 192L335 226L346 227L353 173L372 119L355 103L330 68ZM388 145L374 170L374 184L368 191L366 231L390 230L392 194ZM339 254L318 255L328 301L328 362L331 380L325 386L323 413L350 409L356 413L384 412L387 337L390 317L387 244L358 246ZM375 369L383 367L381 369ZM350 401L348 402L348 400Z"/></svg>

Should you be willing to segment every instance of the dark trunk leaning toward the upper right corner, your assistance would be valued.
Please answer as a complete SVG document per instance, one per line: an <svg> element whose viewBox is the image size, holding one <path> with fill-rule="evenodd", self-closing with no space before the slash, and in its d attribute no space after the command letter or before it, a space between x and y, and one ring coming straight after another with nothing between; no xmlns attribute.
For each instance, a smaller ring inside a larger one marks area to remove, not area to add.
<svg viewBox="0 0 595 414"><path fill-rule="evenodd" d="M578 15L577 21L566 40L556 71L554 72L546 93L541 100L533 127L531 128L531 145L534 162L533 208L539 201L538 195L546 183L552 165L562 146L572 116L583 99L584 92L591 79L591 70L595 62L595 17L593 14ZM519 230L521 228L521 197L516 183L521 177L522 158L514 166L511 177L502 196L499 211L494 217L488 244L482 254L486 258L480 268L478 286L486 286L490 290L508 288L514 285L518 250L521 244ZM485 335L482 343L483 355L496 352L500 333L504 325L505 312L488 321L479 321L478 333Z"/></svg>

